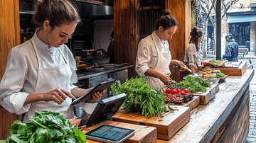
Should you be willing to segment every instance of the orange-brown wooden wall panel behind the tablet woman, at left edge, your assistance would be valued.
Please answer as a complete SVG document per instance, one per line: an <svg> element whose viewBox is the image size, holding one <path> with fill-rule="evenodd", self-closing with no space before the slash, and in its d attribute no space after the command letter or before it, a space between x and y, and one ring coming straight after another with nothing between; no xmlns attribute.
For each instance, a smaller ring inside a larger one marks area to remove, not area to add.
<svg viewBox="0 0 256 143"><path fill-rule="evenodd" d="M4 75L9 51L21 41L18 4L18 0L0 0L0 79ZM15 120L21 120L21 116L9 113L0 105L0 140L10 135Z"/></svg>

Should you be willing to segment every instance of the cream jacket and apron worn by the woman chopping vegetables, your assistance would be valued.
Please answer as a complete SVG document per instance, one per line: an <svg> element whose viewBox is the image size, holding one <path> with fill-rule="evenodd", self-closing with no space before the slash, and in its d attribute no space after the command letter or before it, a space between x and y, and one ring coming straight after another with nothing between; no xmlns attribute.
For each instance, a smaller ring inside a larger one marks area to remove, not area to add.
<svg viewBox="0 0 256 143"><path fill-rule="evenodd" d="M167 57L163 60L165 56ZM155 31L139 42L135 67L137 74L145 74L148 69L154 69L170 76L170 63L171 52L169 50L169 43L166 40L161 40ZM151 76L146 76L145 79L149 81L149 85L153 88L161 89L164 87L164 83L160 79Z"/></svg>

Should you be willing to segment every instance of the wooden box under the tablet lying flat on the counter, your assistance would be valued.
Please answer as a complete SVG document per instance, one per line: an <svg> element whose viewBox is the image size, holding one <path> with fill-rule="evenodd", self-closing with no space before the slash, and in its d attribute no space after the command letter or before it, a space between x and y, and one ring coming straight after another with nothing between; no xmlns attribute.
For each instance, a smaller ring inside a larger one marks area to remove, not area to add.
<svg viewBox="0 0 256 143"><path fill-rule="evenodd" d="M112 125L116 127L124 127L127 129L133 129L135 130L135 134L132 137L129 137L128 139L124 140L123 143L128 143L128 142L156 142L156 127L149 127L149 126L144 126L144 125L134 125L134 124L128 124L124 122L114 122L110 120L105 120L103 122L98 123L97 125L93 125L92 127L89 128L82 128L82 132L86 133L89 132L90 130L95 129L95 127L99 125ZM97 141L91 140L91 139L86 139L87 143L94 143Z"/></svg>

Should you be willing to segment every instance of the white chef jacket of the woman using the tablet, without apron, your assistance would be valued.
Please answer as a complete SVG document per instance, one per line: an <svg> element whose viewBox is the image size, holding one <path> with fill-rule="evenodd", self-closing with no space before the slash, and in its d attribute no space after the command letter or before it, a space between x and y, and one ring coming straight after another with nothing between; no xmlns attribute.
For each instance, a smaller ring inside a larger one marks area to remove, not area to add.
<svg viewBox="0 0 256 143"><path fill-rule="evenodd" d="M70 79L70 91L78 81L75 73L76 65L72 52L63 44L60 47L50 47L43 43L36 35L33 38L38 45L38 56L41 58L42 67L60 67L65 64L63 56L58 49L68 59L72 76ZM26 113L31 104L24 105L29 94L35 93L38 76L38 61L36 53L31 45L31 40L17 45L9 52L6 70L0 83L0 103L10 113L17 115ZM54 79L53 79L54 80ZM50 82L50 81L49 81Z"/></svg>

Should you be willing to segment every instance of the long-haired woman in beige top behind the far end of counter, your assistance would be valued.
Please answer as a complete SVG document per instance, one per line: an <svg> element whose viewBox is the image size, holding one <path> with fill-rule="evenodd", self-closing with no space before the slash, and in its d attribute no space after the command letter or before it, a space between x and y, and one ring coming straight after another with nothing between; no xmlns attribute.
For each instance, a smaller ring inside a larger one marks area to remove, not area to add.
<svg viewBox="0 0 256 143"><path fill-rule="evenodd" d="M191 38L189 40L189 44L186 46L183 62L189 69L191 69L191 73L188 71L183 71L181 72L182 76L186 76L188 74L196 74L197 66L201 64L198 52L200 42L203 38L203 32L199 28L193 28L190 35Z"/></svg>

